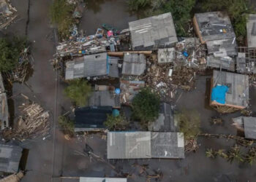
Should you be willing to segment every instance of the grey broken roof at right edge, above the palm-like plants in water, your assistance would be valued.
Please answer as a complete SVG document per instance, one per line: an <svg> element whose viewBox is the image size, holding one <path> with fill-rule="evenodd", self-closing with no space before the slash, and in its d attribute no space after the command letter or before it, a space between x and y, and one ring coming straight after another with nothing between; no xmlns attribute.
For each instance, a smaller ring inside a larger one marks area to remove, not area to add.
<svg viewBox="0 0 256 182"><path fill-rule="evenodd" d="M244 131L245 138L256 140L256 117L241 116L233 118L233 125Z"/></svg>

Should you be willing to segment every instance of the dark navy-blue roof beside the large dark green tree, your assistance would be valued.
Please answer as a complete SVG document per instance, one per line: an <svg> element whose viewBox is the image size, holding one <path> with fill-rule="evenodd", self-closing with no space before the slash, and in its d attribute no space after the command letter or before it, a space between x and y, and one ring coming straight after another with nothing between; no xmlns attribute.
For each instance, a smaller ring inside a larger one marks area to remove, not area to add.
<svg viewBox="0 0 256 182"><path fill-rule="evenodd" d="M104 130L103 124L108 114L112 114L111 106L91 106L75 109L75 132Z"/></svg>

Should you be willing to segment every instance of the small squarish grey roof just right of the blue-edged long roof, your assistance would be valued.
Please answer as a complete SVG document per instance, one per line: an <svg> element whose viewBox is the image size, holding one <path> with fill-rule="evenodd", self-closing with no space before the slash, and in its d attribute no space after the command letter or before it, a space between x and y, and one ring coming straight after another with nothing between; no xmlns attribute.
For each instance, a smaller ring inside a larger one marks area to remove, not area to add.
<svg viewBox="0 0 256 182"><path fill-rule="evenodd" d="M140 76L146 69L146 57L143 54L125 53L122 68L123 75Z"/></svg>

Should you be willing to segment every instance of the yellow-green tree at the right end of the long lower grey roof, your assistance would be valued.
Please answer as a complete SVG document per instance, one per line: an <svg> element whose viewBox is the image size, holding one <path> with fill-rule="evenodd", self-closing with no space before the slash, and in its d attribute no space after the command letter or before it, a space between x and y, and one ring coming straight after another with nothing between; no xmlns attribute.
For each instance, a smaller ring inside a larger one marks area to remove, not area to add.
<svg viewBox="0 0 256 182"><path fill-rule="evenodd" d="M195 110L182 109L175 114L175 119L185 140L196 139L200 133L200 115Z"/></svg>

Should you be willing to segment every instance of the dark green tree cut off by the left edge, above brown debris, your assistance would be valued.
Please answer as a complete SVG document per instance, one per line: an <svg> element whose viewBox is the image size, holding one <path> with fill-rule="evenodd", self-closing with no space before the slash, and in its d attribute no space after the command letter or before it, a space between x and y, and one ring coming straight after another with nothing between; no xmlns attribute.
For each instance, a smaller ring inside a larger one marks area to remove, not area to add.
<svg viewBox="0 0 256 182"><path fill-rule="evenodd" d="M28 46L28 41L22 37L0 39L0 71L11 71L18 64L20 53Z"/></svg>

